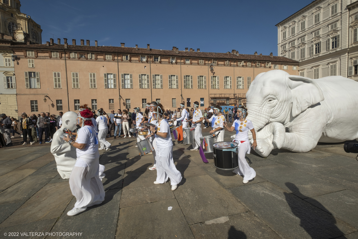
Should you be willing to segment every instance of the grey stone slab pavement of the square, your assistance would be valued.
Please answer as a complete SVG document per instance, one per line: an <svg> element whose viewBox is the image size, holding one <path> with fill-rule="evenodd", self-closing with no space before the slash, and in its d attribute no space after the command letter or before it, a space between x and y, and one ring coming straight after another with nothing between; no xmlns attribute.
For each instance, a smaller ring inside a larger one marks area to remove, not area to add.
<svg viewBox="0 0 358 239"><path fill-rule="evenodd" d="M308 153L276 149L267 158L251 151L246 159L257 176L244 185L241 176L216 169L212 155L205 164L191 145L174 141L183 180L171 191L169 183L153 184L153 156L139 156L135 138L109 141L111 149L100 151L105 201L72 217L66 212L76 199L49 144L0 149L0 237L358 238L358 162L343 144Z"/></svg>

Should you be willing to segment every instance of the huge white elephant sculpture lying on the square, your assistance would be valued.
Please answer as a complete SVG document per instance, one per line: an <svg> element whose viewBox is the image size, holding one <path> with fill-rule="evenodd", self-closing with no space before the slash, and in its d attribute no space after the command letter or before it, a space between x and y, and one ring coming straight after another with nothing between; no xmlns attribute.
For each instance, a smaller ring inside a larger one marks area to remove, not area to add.
<svg viewBox="0 0 358 239"><path fill-rule="evenodd" d="M313 80L272 70L256 76L246 99L247 118L257 131L255 151L262 157L275 148L304 153L318 142L358 138L354 80L342 76Z"/></svg>

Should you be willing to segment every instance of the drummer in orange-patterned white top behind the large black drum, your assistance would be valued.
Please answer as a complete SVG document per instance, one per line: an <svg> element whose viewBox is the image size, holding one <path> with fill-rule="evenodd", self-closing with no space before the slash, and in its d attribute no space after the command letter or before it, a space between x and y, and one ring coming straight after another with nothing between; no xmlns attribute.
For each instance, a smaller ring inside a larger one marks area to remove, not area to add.
<svg viewBox="0 0 358 239"><path fill-rule="evenodd" d="M257 147L256 143L256 134L255 129L253 128L252 122L247 120L247 113L246 113L245 106L241 106L237 109L237 118L231 128L229 128L225 124L225 128L232 132L236 130L236 137L235 143L238 144L238 161L239 167L236 168L233 173L243 176L243 183L248 183L249 180L252 180L256 176L256 172L253 168L251 168L248 163L246 162L245 155L250 154L250 142L248 141L248 131L250 130L253 137L253 144L252 147L255 150Z"/></svg>

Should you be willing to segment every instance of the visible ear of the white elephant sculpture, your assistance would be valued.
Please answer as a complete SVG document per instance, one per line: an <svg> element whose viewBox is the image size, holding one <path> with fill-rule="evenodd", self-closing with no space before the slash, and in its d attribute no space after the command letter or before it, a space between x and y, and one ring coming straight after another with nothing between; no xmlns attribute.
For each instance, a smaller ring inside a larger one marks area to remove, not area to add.
<svg viewBox="0 0 358 239"><path fill-rule="evenodd" d="M292 92L292 116L295 117L308 107L324 100L321 88L314 80L303 76L287 76Z"/></svg>

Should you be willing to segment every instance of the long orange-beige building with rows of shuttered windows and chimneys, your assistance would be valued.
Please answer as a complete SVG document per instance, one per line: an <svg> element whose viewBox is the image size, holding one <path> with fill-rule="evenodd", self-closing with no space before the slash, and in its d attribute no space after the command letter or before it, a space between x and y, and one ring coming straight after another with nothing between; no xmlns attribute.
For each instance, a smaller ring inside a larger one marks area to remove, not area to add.
<svg viewBox="0 0 358 239"><path fill-rule="evenodd" d="M72 45L53 39L47 44L11 46L15 64L19 111L74 111L140 107L160 101L166 109L180 102L201 108L245 102L251 82L273 69L298 75L298 62L262 54L179 51L147 48L90 46L89 40ZM45 98L45 96L48 96ZM44 102L46 99L46 102Z"/></svg>

